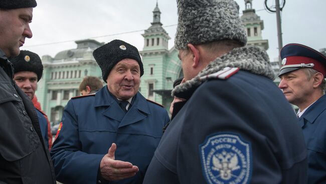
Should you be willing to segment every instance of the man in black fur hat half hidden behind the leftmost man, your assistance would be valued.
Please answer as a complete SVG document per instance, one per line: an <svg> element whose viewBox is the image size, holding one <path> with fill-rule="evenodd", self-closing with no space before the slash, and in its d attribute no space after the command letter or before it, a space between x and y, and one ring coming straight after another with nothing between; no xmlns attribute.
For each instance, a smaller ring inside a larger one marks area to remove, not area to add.
<svg viewBox="0 0 326 184"><path fill-rule="evenodd" d="M36 98L35 91L37 89L37 82L41 79L43 74L41 58L38 54L29 50L21 50L18 56L10 57L9 60L13 63L14 80L16 81L16 84L32 99L33 102L33 99ZM35 108L39 118L43 140L46 146L51 149L52 132L50 121L48 116L42 110L36 106Z"/></svg>

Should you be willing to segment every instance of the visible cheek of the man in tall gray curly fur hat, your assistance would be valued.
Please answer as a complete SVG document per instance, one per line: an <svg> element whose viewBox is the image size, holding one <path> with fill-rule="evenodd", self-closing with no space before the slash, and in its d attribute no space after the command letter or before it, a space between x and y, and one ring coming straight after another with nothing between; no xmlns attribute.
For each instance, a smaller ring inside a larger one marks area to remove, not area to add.
<svg viewBox="0 0 326 184"><path fill-rule="evenodd" d="M181 60L181 67L186 81L194 78L198 74L198 72L192 67L193 57L191 55L192 54L189 50L179 50L178 56Z"/></svg>

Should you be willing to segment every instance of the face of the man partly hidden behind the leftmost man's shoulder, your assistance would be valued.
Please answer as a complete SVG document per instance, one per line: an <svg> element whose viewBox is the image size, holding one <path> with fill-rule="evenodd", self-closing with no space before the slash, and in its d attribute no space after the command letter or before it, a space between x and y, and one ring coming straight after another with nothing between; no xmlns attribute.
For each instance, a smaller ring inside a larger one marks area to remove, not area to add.
<svg viewBox="0 0 326 184"><path fill-rule="evenodd" d="M15 73L14 80L25 94L33 99L37 89L37 74L33 71L19 71Z"/></svg>

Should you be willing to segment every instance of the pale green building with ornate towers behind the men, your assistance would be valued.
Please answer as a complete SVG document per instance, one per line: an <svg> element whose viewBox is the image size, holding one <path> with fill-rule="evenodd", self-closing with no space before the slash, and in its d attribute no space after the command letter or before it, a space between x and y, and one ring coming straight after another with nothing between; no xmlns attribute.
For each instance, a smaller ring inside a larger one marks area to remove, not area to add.
<svg viewBox="0 0 326 184"><path fill-rule="evenodd" d="M263 40L261 30L263 21L252 9L252 0L245 0L246 9L241 19L248 34L248 45L258 45L268 48L268 40ZM171 91L175 79L183 76L178 50L173 46L168 48L171 37L162 27L160 10L157 2L153 12L153 21L143 34L144 46L139 51L144 74L140 78L141 94L157 103L165 105L169 111L173 97ZM126 40L127 41L127 40ZM43 76L38 82L36 95L42 109L53 124L61 121L62 113L68 100L80 95L79 83L87 76L97 76L102 79L101 69L96 63L92 52L103 45L93 39L76 41L77 48L61 51L52 58L44 55ZM103 81L103 85L106 83Z"/></svg>

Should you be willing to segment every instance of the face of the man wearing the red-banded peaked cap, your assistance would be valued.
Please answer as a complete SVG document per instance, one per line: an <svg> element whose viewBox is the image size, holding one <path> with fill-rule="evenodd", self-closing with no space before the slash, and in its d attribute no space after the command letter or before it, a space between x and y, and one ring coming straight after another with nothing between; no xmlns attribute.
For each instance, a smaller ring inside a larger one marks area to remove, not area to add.
<svg viewBox="0 0 326 184"><path fill-rule="evenodd" d="M292 104L302 104L313 91L313 77L308 79L303 69L285 73L280 79L278 87Z"/></svg>

